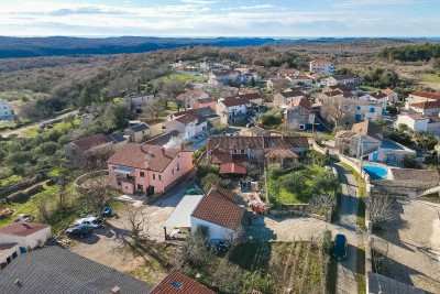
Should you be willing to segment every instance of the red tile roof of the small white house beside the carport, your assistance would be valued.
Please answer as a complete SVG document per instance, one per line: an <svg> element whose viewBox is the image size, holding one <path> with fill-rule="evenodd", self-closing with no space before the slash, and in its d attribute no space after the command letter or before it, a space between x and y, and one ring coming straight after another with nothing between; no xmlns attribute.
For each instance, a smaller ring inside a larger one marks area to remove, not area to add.
<svg viewBox="0 0 440 294"><path fill-rule="evenodd" d="M193 217L237 229L243 219L244 209L237 203L237 195L230 189L211 188L193 211Z"/></svg>

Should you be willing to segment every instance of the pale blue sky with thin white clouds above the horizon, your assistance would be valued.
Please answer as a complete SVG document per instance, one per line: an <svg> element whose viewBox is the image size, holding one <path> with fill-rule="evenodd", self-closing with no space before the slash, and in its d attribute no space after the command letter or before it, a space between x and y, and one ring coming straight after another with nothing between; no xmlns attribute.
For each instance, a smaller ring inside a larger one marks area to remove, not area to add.
<svg viewBox="0 0 440 294"><path fill-rule="evenodd" d="M10 36L440 36L440 0L1 0Z"/></svg>

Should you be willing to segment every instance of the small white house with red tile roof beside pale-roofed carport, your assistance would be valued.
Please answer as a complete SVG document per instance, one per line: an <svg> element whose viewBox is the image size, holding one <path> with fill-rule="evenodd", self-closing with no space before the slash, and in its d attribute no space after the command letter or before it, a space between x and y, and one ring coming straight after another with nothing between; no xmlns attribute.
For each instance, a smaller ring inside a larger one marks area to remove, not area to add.
<svg viewBox="0 0 440 294"><path fill-rule="evenodd" d="M191 214L191 232L198 226L209 229L209 239L230 240L237 237L243 221L244 208L237 204L230 189L212 187Z"/></svg>

